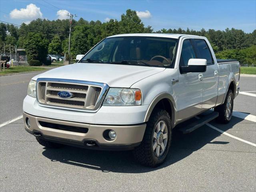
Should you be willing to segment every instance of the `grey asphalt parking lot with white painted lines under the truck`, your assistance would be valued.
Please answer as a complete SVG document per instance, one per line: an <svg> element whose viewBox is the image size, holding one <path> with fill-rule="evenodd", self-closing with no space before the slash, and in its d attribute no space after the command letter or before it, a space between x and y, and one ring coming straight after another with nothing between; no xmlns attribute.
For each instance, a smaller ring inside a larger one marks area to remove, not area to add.
<svg viewBox="0 0 256 192"><path fill-rule="evenodd" d="M166 162L148 168L130 151L38 144L19 117L36 74L0 77L0 191L256 191L256 77L241 77L229 124L175 130Z"/></svg>

